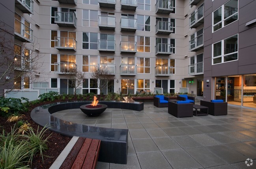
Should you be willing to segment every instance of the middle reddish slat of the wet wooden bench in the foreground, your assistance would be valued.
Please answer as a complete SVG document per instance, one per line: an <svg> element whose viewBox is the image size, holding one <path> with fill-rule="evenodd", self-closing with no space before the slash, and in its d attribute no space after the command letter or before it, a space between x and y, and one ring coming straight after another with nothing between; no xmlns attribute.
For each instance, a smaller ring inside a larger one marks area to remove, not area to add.
<svg viewBox="0 0 256 169"><path fill-rule="evenodd" d="M77 154L77 157L71 167L71 169L81 169L82 165L84 163L84 159L86 158L87 152L89 150L89 147L92 143L92 139L91 138L86 138L86 140L84 141L84 144L82 145L79 153Z"/></svg>

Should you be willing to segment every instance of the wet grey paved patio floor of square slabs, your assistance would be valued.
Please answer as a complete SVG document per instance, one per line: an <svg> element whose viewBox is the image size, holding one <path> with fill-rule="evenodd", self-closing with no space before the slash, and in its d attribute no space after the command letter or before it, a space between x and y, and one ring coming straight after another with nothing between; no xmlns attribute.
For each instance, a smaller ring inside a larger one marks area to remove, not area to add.
<svg viewBox="0 0 256 169"><path fill-rule="evenodd" d="M198 102L196 103L198 104ZM98 162L97 169L256 168L256 110L228 106L227 116L176 118L168 108L107 108L99 117L80 109L52 114L73 123L129 129L127 165ZM254 160L247 167L245 160Z"/></svg>

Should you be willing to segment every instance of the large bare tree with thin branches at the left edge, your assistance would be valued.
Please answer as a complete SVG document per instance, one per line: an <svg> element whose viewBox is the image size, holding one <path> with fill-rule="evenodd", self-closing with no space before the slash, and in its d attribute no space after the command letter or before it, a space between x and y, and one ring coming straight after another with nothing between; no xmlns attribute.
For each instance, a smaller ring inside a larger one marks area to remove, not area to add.
<svg viewBox="0 0 256 169"><path fill-rule="evenodd" d="M0 95L4 89L21 89L36 80L43 63L39 63L35 46L35 42L15 44L13 29L0 22Z"/></svg>

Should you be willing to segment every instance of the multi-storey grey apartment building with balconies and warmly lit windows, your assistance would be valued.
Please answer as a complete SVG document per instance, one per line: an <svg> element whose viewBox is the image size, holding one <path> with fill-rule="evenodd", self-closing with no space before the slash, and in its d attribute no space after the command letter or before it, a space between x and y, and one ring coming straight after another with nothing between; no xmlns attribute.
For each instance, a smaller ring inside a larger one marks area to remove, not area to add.
<svg viewBox="0 0 256 169"><path fill-rule="evenodd" d="M31 12L24 12L19 3ZM24 35L33 39L25 36L26 43L33 44L34 51L42 56L39 62L43 70L34 75L33 83L28 77L21 79L19 84L29 85L17 88L49 88L73 94L64 72L76 68L86 73L78 93L99 94L90 77L93 70L105 68L111 83L104 94L160 89L165 93L194 93L206 100L223 99L225 94L227 101L233 96L233 102L242 104L244 95L255 90L255 15L250 14L255 3L15 0L15 21L29 28ZM248 22L253 23L245 26ZM22 40L16 37L15 42L18 45Z"/></svg>

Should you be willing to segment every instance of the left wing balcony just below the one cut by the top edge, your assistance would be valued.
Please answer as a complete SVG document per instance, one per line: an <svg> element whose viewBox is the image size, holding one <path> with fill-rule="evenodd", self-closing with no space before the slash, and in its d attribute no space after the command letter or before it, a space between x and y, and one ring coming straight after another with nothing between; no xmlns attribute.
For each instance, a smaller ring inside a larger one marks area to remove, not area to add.
<svg viewBox="0 0 256 169"><path fill-rule="evenodd" d="M20 40L21 42L29 42L32 43L33 41L33 31L28 26L20 22L15 18L15 25L14 25L14 34L15 39Z"/></svg>

